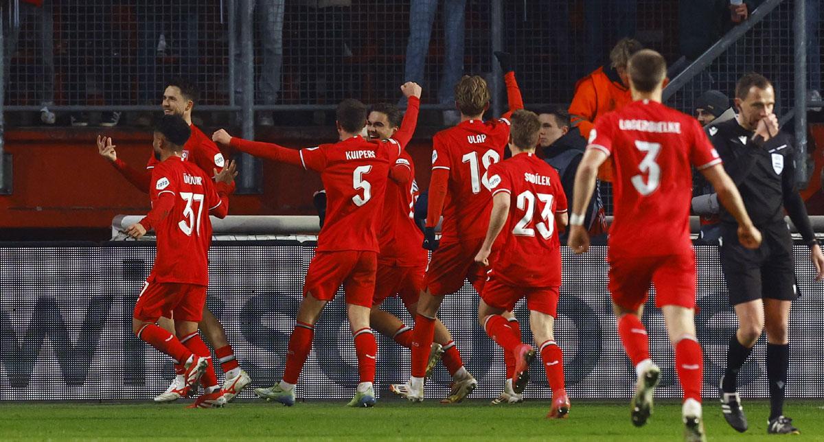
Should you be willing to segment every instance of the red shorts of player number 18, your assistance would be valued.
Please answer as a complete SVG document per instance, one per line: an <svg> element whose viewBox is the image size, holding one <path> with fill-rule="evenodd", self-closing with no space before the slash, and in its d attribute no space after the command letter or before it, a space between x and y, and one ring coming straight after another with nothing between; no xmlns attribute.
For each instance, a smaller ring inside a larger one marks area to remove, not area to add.
<svg viewBox="0 0 824 442"><path fill-rule="evenodd" d="M483 244L483 238L441 243L432 253L426 270L425 286L429 293L435 296L450 295L461 290L466 279L478 293L483 291L486 268L475 264L475 255ZM489 262L493 261L494 256L490 256Z"/></svg>

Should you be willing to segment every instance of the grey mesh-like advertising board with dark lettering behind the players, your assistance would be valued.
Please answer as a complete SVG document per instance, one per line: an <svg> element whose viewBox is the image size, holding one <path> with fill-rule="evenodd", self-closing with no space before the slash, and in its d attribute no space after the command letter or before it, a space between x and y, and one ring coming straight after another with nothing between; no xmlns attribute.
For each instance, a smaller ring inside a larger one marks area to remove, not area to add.
<svg viewBox="0 0 824 442"><path fill-rule="evenodd" d="M131 331L132 309L152 268L151 242L107 244L0 244L0 400L149 399L173 376L166 356ZM703 393L717 394L729 337L736 328L728 305L718 250L696 246L699 341L705 349ZM255 386L279 380L288 336L301 300L303 277L314 254L310 243L218 242L210 251L208 306L227 330L241 367ZM564 247L564 283L555 337L564 350L567 392L573 399L625 399L634 369L615 332L606 291L606 247L575 256ZM824 398L821 348L824 310L821 283L803 245L794 249L801 298L790 314L789 398ZM476 318L471 286L447 297L440 318L452 331L466 368L479 381L473 398L497 397L504 382L503 356ZM663 318L652 302L644 313L652 354L662 367L661 398L679 398L672 349ZM407 323L395 299L387 308ZM527 310L517 317L528 338ZM410 353L378 337L377 392L409 376ZM742 396L768 396L765 342L756 344L739 375ZM531 367L527 398L550 398L540 360ZM220 370L218 370L219 373ZM218 375L218 377L220 377ZM449 376L438 367L428 398L447 394ZM349 399L358 383L352 335L339 296L315 329L314 347L297 397ZM242 398L252 398L249 390Z"/></svg>

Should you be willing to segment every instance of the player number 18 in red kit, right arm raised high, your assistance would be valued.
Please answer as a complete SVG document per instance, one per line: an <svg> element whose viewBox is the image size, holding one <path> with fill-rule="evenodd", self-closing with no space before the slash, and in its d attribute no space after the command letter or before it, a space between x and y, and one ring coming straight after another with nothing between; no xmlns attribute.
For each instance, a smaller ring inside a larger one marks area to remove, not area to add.
<svg viewBox="0 0 824 442"><path fill-rule="evenodd" d="M509 112L503 118L485 122L482 118L490 100L486 81L478 76L465 76L455 86L461 123L433 137L432 179L424 232L424 249L433 250L432 260L415 315L411 377L406 384L390 386L393 393L412 402L424 400L424 375L438 308L444 297L458 291L466 279L480 292L486 279L484 269L475 265L475 254L484 241L492 210L487 169L503 158L503 149L509 141L508 114L523 108L515 72L508 66L508 54L499 53L499 59L503 71L507 72L504 81ZM442 236L438 244L435 226L441 213ZM463 367L452 379L452 392L445 402L461 402L478 384Z"/></svg>

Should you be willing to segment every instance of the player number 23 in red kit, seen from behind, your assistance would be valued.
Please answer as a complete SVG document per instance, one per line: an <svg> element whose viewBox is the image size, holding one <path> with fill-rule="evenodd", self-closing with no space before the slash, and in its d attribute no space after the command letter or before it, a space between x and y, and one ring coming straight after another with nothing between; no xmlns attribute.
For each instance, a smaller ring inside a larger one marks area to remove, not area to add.
<svg viewBox="0 0 824 442"><path fill-rule="evenodd" d="M555 168L535 156L541 131L538 116L520 109L511 121L509 150L513 156L489 166L488 171L492 215L475 263L490 266L493 248L496 254L480 293L478 320L489 337L515 356L512 385L520 394L527 386L535 350L521 341L521 333L516 333L501 314L526 298L532 335L552 389L548 416L566 417L569 398L564 390L564 355L553 335L561 285L558 230L567 226L566 194Z"/></svg>

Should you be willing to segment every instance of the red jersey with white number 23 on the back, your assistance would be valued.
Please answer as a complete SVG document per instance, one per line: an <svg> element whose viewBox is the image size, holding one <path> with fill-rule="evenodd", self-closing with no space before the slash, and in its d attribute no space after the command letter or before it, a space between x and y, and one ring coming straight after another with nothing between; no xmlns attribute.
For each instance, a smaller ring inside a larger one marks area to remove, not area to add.
<svg viewBox="0 0 824 442"><path fill-rule="evenodd" d="M489 166L492 194L510 194L507 222L495 240L495 278L511 286L561 285L561 252L555 213L567 199L554 167L533 153Z"/></svg>

